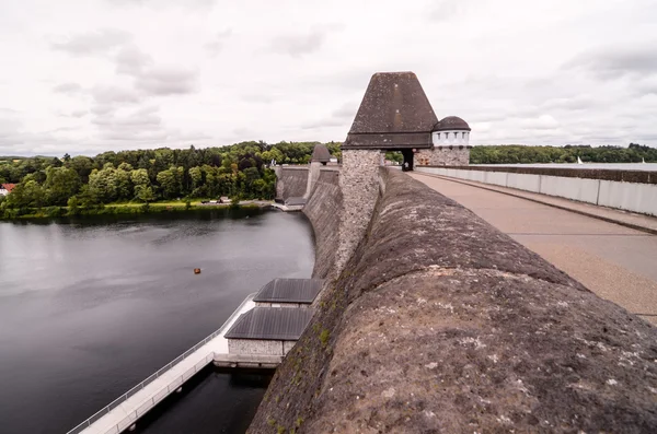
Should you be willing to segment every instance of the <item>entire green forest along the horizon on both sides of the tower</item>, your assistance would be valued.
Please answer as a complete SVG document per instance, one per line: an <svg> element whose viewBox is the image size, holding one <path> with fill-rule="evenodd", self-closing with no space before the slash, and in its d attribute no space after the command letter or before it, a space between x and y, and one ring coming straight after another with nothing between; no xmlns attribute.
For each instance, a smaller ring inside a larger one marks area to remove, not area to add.
<svg viewBox="0 0 657 434"><path fill-rule="evenodd" d="M217 199L274 199L277 164L307 164L319 142L249 141L221 148L104 152L84 155L0 156L0 184L16 184L0 196L0 218L94 213L105 204ZM325 143L341 159L341 143ZM471 164L517 163L638 163L657 162L657 149L631 143L622 146L474 146ZM401 162L401 153L387 159ZM66 207L66 208L65 208Z"/></svg>

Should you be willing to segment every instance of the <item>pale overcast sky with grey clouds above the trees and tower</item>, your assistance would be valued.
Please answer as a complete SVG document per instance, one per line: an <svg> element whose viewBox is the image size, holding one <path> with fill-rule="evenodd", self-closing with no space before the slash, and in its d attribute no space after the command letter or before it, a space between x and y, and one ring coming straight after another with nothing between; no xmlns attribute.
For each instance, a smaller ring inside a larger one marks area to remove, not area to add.
<svg viewBox="0 0 657 434"><path fill-rule="evenodd" d="M0 0L0 154L344 140L414 71L473 144L657 145L657 0Z"/></svg>

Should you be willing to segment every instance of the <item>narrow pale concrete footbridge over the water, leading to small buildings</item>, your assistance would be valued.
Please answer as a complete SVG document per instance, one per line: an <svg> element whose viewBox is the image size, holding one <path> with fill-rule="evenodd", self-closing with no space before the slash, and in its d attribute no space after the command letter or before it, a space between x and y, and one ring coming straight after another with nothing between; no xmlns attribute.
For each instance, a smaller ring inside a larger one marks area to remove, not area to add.
<svg viewBox="0 0 657 434"><path fill-rule="evenodd" d="M255 303L253 302L254 296L255 293L249 295L249 297L242 302L240 307L238 307L238 309L229 317L223 326L215 332L217 336L209 339L197 350L185 353L184 359L177 363L173 363L173 366L171 366L170 370L163 372L162 375L159 375L134 395L120 397L117 401L114 401L112 404L91 417L88 421L84 421L82 424L69 431L68 434L118 434L128 429L146 412L155 407L160 401L181 387L187 379L192 378L197 372L211 363L215 359L215 354L228 353L228 341L223 336L241 314L244 314L255 306Z"/></svg>

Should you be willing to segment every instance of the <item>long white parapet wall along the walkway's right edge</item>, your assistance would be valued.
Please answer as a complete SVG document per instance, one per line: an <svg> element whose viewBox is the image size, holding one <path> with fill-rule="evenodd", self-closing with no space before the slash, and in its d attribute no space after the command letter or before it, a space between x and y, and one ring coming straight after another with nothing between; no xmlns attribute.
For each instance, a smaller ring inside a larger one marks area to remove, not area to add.
<svg viewBox="0 0 657 434"><path fill-rule="evenodd" d="M415 171L657 215L657 184L448 167L415 166Z"/></svg>

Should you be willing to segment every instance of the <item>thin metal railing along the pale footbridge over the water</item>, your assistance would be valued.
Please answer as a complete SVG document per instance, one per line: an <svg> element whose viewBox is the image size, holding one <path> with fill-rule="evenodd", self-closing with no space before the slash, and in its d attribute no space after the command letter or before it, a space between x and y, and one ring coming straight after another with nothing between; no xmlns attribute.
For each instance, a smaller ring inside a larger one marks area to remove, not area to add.
<svg viewBox="0 0 657 434"><path fill-rule="evenodd" d="M107 406L105 406L101 410L96 411L93 415L91 415L84 422L77 425L74 429L69 431L67 434L81 433L82 431L84 431L85 429L91 426L92 423L96 422L99 419L101 419L105 414L108 414L112 410L114 410L115 408L120 406L123 402L127 401L128 398L132 397L138 391L142 390L146 386L151 384L153 380L155 380L157 378L159 378L160 376L162 376L163 374L169 372L173 366L177 365L178 363L181 363L182 361L187 359L189 355L192 355L195 351L197 351L198 349L200 349L201 347L207 344L209 341L211 341L212 339L215 339L216 337L221 335L223 329L238 316L238 314L242 310L244 305L253 300L255 294L256 293L249 294L249 296L246 298L244 298L244 301L242 303L240 303L240 306L238 306L238 308L228 317L228 319L223 322L223 325L217 331L215 331L212 335L208 336L207 338L205 338L204 340L201 340L200 342L198 342L197 344L192 347L189 350L185 351L183 354L178 355L177 357L175 357L174 360L172 360L171 362L169 362L168 364L165 364L164 366L159 368L154 374L150 375L143 382L139 383L137 386L132 387L131 389L126 391L124 395L116 398L114 401L110 402ZM192 370L188 370L183 375L181 375L178 378L176 378L176 380L174 382L175 387L173 388L173 390L177 389L182 385L182 383L184 383L185 380L191 378L196 372L200 371L200 368L205 367L208 363L210 363L212 361L214 356L215 356L214 353L208 354L205 357L205 363L203 364L203 366L199 367L200 363L197 363L196 365L194 365L193 372L191 374L189 374L189 372ZM181 383L178 383L177 379L182 379ZM152 403L152 407L154 407L159 401L161 401L165 396L168 396L172 391L172 390L170 390L170 386L166 387L166 394L162 395L161 398L158 399L158 401L155 401L155 397L151 397L150 401ZM161 394L158 392L155 396L158 396L158 395L161 395ZM147 403L147 402L145 402L145 403ZM152 407L150 407L150 408L152 408ZM143 412L141 412L141 414L137 414L137 411L134 411L128 415L128 418L131 420L131 423L134 423L145 412L146 412L146 410ZM134 418L132 418L132 415L134 415ZM119 425L120 425L120 423L116 425L115 431L113 430L111 432L120 433L123 430L125 430L127 427L127 426L124 426L123 429L120 429Z"/></svg>

